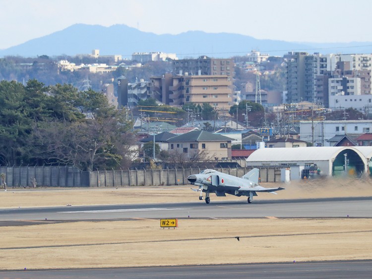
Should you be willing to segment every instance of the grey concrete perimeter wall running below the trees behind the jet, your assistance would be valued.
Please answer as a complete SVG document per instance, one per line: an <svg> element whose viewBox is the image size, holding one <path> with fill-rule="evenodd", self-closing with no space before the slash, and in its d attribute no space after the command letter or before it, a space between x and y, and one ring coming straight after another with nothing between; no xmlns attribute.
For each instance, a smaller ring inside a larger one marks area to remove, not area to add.
<svg viewBox="0 0 372 279"><path fill-rule="evenodd" d="M39 187L118 187L187 185L187 176L204 168L161 170L81 171L71 166L58 167L0 167L6 175L7 187L33 187L34 178ZM251 167L215 168L215 170L242 177ZM280 182L280 167L259 167L261 182Z"/></svg>

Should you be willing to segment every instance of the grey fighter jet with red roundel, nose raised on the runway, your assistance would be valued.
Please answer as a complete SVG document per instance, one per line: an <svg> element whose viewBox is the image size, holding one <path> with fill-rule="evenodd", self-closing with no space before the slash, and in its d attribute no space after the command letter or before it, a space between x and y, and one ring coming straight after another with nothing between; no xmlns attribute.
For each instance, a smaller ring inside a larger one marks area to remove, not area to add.
<svg viewBox="0 0 372 279"><path fill-rule="evenodd" d="M203 200L202 193L205 193L205 202L210 203L209 193L216 193L217 197L226 197L226 194L237 197L248 196L248 203L253 201L253 196L257 196L257 192L269 192L276 194L275 191L284 190L285 188L264 188L258 184L259 169L254 168L242 177L218 172L213 169L205 169L199 174L192 174L187 177L187 180L199 189L199 200Z"/></svg>

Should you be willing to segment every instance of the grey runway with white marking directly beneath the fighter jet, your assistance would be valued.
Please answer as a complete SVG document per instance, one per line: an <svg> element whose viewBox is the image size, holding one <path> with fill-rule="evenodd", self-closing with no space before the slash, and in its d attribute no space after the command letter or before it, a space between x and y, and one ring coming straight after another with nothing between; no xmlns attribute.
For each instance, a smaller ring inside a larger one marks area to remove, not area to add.
<svg viewBox="0 0 372 279"><path fill-rule="evenodd" d="M372 197L308 200L203 201L174 204L65 206L0 209L1 221L11 220L110 220L125 218L234 218L234 217L372 217ZM8 223L8 222L5 222Z"/></svg>

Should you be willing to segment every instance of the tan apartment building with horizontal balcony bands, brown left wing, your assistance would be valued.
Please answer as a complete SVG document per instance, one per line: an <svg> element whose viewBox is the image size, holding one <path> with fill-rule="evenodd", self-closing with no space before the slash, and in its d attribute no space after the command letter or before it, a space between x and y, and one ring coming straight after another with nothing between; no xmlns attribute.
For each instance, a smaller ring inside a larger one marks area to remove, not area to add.
<svg viewBox="0 0 372 279"><path fill-rule="evenodd" d="M170 86L170 105L208 102L215 109L229 110L232 106L232 78L227 75L178 75Z"/></svg>

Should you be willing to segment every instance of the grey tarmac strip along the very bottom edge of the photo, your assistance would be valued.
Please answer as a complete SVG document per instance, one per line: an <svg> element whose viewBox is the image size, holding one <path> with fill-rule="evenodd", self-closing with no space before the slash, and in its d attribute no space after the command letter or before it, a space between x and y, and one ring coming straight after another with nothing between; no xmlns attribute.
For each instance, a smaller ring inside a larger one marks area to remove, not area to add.
<svg viewBox="0 0 372 279"><path fill-rule="evenodd" d="M338 261L278 264L239 264L216 266L182 266L150 268L87 269L60 271L0 272L0 278L62 279L62 278L371 278L371 261Z"/></svg>

